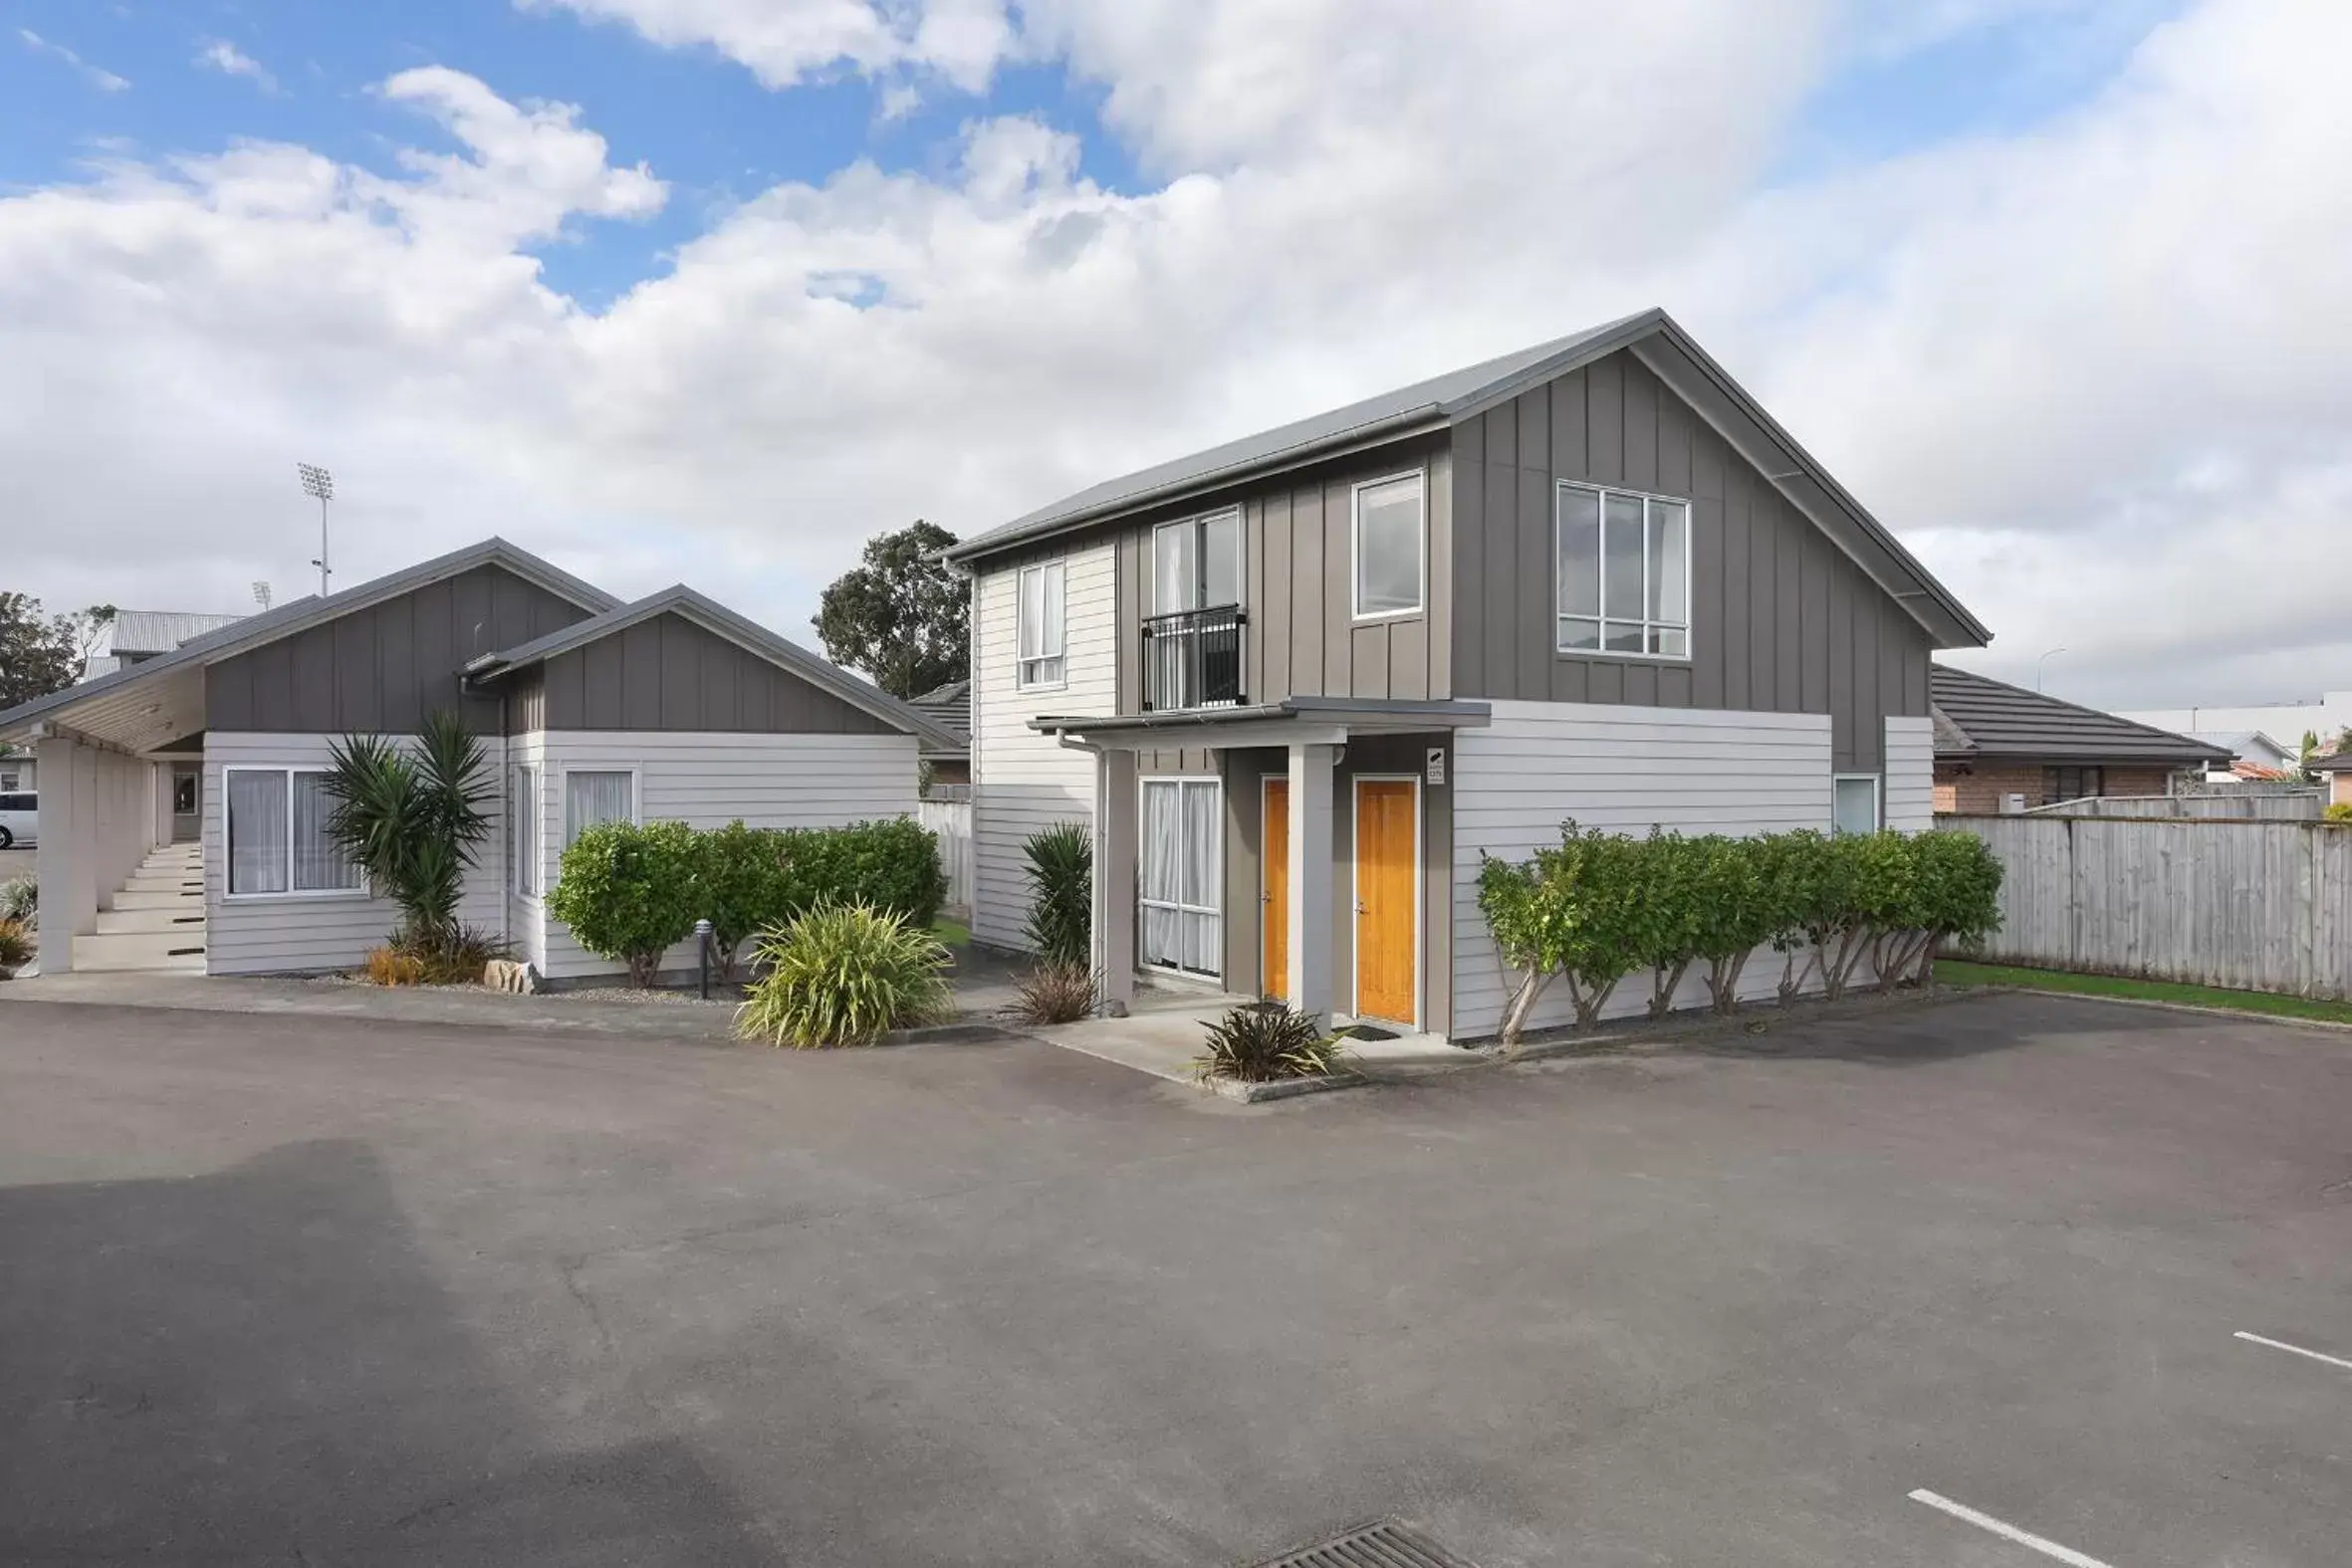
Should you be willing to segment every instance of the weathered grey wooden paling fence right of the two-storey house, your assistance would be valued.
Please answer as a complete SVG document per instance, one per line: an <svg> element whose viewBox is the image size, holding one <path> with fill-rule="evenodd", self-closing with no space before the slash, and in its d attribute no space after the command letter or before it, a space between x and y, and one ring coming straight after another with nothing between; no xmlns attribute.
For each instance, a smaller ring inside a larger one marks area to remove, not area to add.
<svg viewBox="0 0 2352 1568"><path fill-rule="evenodd" d="M2352 997L2352 830L1952 816L2002 860L1992 961Z"/></svg>

